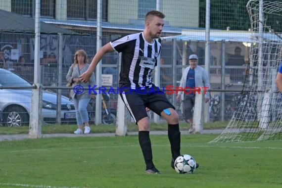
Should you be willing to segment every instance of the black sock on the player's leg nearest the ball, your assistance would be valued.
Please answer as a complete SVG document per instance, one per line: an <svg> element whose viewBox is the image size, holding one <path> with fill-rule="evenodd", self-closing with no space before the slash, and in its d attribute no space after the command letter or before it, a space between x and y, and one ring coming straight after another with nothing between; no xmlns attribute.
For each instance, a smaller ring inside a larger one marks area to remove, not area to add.
<svg viewBox="0 0 282 188"><path fill-rule="evenodd" d="M168 124L168 139L170 141L170 148L172 158L175 159L180 155L180 131L179 124Z"/></svg>

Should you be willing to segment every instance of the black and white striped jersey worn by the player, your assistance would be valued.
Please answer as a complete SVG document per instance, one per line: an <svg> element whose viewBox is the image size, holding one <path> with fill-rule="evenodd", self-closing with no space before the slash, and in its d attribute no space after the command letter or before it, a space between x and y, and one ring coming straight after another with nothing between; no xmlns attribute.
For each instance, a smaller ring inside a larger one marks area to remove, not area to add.
<svg viewBox="0 0 282 188"><path fill-rule="evenodd" d="M142 89L154 85L151 74L160 55L159 42L154 39L149 44L141 32L113 40L110 44L117 52L122 52L120 87Z"/></svg>

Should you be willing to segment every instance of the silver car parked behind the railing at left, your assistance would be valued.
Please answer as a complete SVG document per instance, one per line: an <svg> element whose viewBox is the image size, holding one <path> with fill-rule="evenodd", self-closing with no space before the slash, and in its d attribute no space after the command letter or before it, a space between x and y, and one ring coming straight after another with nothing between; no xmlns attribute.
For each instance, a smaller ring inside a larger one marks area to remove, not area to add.
<svg viewBox="0 0 282 188"><path fill-rule="evenodd" d="M0 87L29 87L29 82L8 70L0 69ZM29 124L32 100L31 89L0 89L0 119L3 126L23 126ZM76 121L72 101L61 96L61 121ZM57 116L57 94L43 91L42 121L55 123Z"/></svg>

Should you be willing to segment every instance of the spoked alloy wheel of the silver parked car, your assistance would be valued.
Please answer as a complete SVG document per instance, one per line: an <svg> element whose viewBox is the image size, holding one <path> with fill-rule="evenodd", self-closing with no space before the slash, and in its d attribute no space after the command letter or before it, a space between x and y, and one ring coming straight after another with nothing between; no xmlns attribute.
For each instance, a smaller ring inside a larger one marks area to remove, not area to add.
<svg viewBox="0 0 282 188"><path fill-rule="evenodd" d="M8 106L3 110L3 125L21 127L29 124L29 114L21 106Z"/></svg>

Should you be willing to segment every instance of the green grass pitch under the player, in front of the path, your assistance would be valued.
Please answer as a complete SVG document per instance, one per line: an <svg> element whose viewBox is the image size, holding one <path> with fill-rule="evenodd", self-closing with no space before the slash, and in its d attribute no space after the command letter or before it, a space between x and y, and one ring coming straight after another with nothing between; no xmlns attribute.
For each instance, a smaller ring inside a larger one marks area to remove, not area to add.
<svg viewBox="0 0 282 188"><path fill-rule="evenodd" d="M208 143L217 135L182 135L194 174L170 167L165 135L151 135L161 175L144 174L137 136L50 138L0 142L3 188L281 188L281 141Z"/></svg>

